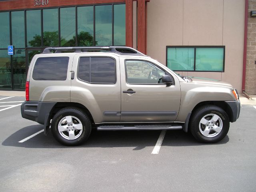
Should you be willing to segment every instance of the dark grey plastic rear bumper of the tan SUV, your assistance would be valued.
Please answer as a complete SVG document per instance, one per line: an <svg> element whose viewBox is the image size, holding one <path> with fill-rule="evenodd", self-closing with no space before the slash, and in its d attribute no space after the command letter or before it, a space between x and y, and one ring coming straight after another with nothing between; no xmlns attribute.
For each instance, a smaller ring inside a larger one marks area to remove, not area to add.
<svg viewBox="0 0 256 192"><path fill-rule="evenodd" d="M22 103L21 115L23 118L44 124L56 102L25 101Z"/></svg>

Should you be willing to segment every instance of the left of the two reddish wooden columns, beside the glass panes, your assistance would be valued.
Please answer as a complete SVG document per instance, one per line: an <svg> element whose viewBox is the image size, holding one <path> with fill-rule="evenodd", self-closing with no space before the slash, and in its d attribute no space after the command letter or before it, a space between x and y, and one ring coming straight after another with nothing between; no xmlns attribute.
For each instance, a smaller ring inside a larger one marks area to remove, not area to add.
<svg viewBox="0 0 256 192"><path fill-rule="evenodd" d="M133 0L125 0L125 26L126 26L126 30L125 30L125 35L126 35L126 46L128 47L132 47L132 5L133 5Z"/></svg>

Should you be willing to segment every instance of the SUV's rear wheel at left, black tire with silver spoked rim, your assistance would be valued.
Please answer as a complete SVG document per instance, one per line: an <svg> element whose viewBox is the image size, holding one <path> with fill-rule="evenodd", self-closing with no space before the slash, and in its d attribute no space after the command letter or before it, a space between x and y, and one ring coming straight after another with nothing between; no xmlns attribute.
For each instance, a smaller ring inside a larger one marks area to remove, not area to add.
<svg viewBox="0 0 256 192"><path fill-rule="evenodd" d="M68 119L71 119L74 125L68 125ZM63 129L67 128L67 130L59 132L59 124ZM76 129L78 127L79 129ZM58 142L66 146L77 146L84 143L90 136L91 130L90 119L80 108L63 108L52 118L52 134Z"/></svg>

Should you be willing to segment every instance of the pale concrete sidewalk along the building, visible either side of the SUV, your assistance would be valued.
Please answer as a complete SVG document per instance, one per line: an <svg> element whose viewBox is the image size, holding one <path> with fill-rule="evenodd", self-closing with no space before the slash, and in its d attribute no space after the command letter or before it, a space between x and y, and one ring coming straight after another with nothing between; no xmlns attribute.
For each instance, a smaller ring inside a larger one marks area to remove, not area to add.
<svg viewBox="0 0 256 192"><path fill-rule="evenodd" d="M25 97L25 91L0 91L0 96L16 96ZM255 105L256 106L256 95L250 95L252 99L247 99L243 94L240 94L240 102L242 105Z"/></svg>

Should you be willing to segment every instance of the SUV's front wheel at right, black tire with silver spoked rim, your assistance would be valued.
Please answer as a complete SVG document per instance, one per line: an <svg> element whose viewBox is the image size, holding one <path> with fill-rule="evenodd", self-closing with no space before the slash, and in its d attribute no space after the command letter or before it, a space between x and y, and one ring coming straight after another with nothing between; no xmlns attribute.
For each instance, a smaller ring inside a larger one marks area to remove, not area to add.
<svg viewBox="0 0 256 192"><path fill-rule="evenodd" d="M218 120L216 120L217 117ZM212 122L209 121L211 119ZM189 129L199 142L216 143L228 133L229 122L228 114L222 108L214 105L205 105L192 113Z"/></svg>

